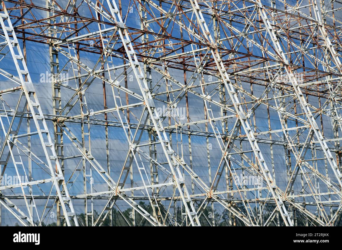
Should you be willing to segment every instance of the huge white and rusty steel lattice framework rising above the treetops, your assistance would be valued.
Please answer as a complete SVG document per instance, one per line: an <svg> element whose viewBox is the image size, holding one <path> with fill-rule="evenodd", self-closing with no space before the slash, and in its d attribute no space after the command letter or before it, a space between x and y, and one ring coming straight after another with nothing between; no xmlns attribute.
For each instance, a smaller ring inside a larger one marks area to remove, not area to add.
<svg viewBox="0 0 342 250"><path fill-rule="evenodd" d="M1 225L341 224L341 1L0 3Z"/></svg>

